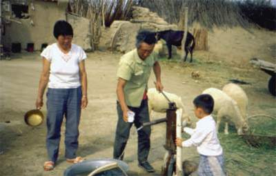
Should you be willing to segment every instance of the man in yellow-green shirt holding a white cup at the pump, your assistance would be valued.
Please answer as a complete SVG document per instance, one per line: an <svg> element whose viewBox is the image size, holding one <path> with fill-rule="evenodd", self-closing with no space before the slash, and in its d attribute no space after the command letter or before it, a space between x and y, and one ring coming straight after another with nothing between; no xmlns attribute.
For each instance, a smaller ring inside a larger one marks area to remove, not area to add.
<svg viewBox="0 0 276 176"><path fill-rule="evenodd" d="M146 91L152 68L156 77L156 88L163 90L161 68L157 61L158 54L153 51L155 43L154 32L139 31L135 43L137 48L126 53L119 61L117 73L118 121L113 152L114 159L124 159L124 149L132 124L139 128L143 123L150 121ZM130 112L135 113L134 121L128 119ZM149 173L155 171L148 163L150 132L150 126L138 131L138 166Z"/></svg>

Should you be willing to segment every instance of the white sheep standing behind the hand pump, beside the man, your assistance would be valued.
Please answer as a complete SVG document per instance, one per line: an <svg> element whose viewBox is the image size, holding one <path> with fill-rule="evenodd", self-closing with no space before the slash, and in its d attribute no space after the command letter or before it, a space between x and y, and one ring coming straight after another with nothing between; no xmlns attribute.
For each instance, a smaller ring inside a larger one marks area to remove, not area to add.
<svg viewBox="0 0 276 176"><path fill-rule="evenodd" d="M182 103L181 97L165 91L162 92L164 92L164 94L166 95L166 97L168 97L168 99L170 99L170 101L175 102L177 108L182 109L182 120L186 120L187 126L190 126L191 120L190 117L188 117L187 115L187 109ZM164 97L164 95L162 95L161 92L157 92L156 88L149 88L147 95L149 114L151 113L151 110L154 110L157 113L166 113L166 109L169 108L168 100Z"/></svg>

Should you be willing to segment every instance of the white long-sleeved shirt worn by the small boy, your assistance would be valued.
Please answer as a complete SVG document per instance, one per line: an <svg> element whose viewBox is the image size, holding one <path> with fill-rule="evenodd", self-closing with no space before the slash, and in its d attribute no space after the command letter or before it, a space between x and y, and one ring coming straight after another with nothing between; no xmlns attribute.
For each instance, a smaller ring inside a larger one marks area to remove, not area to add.
<svg viewBox="0 0 276 176"><path fill-rule="evenodd" d="M212 115L199 119L195 129L185 127L184 131L191 137L182 142L183 147L196 146L197 152L206 156L218 156L223 153L217 138L217 128Z"/></svg>

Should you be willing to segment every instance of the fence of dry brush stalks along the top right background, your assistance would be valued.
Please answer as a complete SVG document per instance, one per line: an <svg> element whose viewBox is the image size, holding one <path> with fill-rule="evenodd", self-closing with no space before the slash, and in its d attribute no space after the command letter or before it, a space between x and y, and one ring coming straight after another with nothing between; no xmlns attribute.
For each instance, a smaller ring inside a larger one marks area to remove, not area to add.
<svg viewBox="0 0 276 176"><path fill-rule="evenodd" d="M247 21L239 12L237 3L228 0L148 0L142 1L141 6L157 12L168 23L178 24L181 19L184 19L181 14L184 14L184 7L187 7L188 26L198 22L201 26L211 30L213 26L245 27L247 25Z"/></svg>

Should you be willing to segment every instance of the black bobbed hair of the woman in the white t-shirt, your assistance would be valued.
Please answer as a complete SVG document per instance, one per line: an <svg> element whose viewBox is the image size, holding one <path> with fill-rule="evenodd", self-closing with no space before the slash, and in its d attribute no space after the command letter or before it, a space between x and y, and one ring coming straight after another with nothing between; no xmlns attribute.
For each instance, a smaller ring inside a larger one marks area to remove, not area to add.
<svg viewBox="0 0 276 176"><path fill-rule="evenodd" d="M54 36L57 39L59 35L72 35L73 37L73 29L70 23L64 20L59 20L55 23Z"/></svg>

